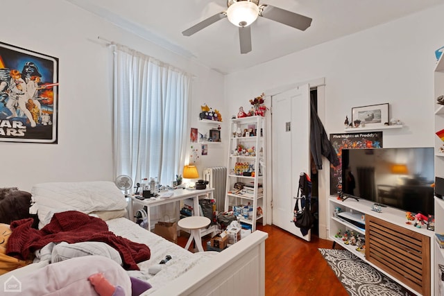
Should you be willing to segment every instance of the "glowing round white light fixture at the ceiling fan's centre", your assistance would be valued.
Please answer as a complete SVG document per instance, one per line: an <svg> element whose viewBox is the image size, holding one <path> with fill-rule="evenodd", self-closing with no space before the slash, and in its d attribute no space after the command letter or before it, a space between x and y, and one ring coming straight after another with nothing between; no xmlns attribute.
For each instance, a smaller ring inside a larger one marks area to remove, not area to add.
<svg viewBox="0 0 444 296"><path fill-rule="evenodd" d="M259 6L251 1L238 1L232 3L227 10L230 23L238 27L246 27L253 24L259 15Z"/></svg>

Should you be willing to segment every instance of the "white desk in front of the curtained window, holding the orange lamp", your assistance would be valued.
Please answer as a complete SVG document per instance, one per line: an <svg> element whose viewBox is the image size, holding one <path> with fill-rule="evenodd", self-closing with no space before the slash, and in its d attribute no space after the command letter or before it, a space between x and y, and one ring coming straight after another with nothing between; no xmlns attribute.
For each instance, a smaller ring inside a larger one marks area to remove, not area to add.
<svg viewBox="0 0 444 296"><path fill-rule="evenodd" d="M199 216L199 197L208 196L208 198L213 198L214 188L207 188L203 190L196 189L173 189L169 191L164 191L159 193L159 196L155 200L151 200L149 198L145 200L139 200L134 196L131 196L130 202L130 214L131 217L135 216L134 204L142 205L142 207L146 207L146 214L148 214L147 222L148 222L148 231L151 232L151 207L160 206L161 204L168 204L170 202L178 202L180 200L186 200L188 198L193 199L193 209L194 215ZM172 194L172 195L171 195ZM165 195L171 195L169 198L165 197Z"/></svg>

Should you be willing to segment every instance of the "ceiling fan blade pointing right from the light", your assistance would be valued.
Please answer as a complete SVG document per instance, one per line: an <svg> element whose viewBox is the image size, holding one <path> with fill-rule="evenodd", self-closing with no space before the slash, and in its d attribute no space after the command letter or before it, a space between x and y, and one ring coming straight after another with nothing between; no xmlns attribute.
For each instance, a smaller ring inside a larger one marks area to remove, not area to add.
<svg viewBox="0 0 444 296"><path fill-rule="evenodd" d="M262 8L262 12L259 13L261 17L278 21L281 24L297 28L298 30L305 31L311 25L312 19L310 17L305 17L304 15L299 15L298 13L268 4L264 4L260 8Z"/></svg>

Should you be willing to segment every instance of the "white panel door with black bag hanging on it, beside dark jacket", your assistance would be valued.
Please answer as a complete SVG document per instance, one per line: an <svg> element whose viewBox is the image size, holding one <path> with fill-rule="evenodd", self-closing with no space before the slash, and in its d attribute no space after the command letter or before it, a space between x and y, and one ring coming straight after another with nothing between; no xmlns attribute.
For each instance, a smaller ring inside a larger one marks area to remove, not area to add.
<svg viewBox="0 0 444 296"><path fill-rule="evenodd" d="M302 85L272 96L271 118L273 225L310 241L294 225L300 173L310 169L310 89Z"/></svg>

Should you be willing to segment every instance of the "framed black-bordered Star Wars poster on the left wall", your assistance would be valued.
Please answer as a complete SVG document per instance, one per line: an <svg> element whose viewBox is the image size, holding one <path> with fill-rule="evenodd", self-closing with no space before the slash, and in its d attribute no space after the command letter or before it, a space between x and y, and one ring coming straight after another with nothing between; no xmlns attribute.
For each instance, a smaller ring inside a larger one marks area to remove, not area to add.
<svg viewBox="0 0 444 296"><path fill-rule="evenodd" d="M0 141L57 143L58 58L0 42Z"/></svg>

